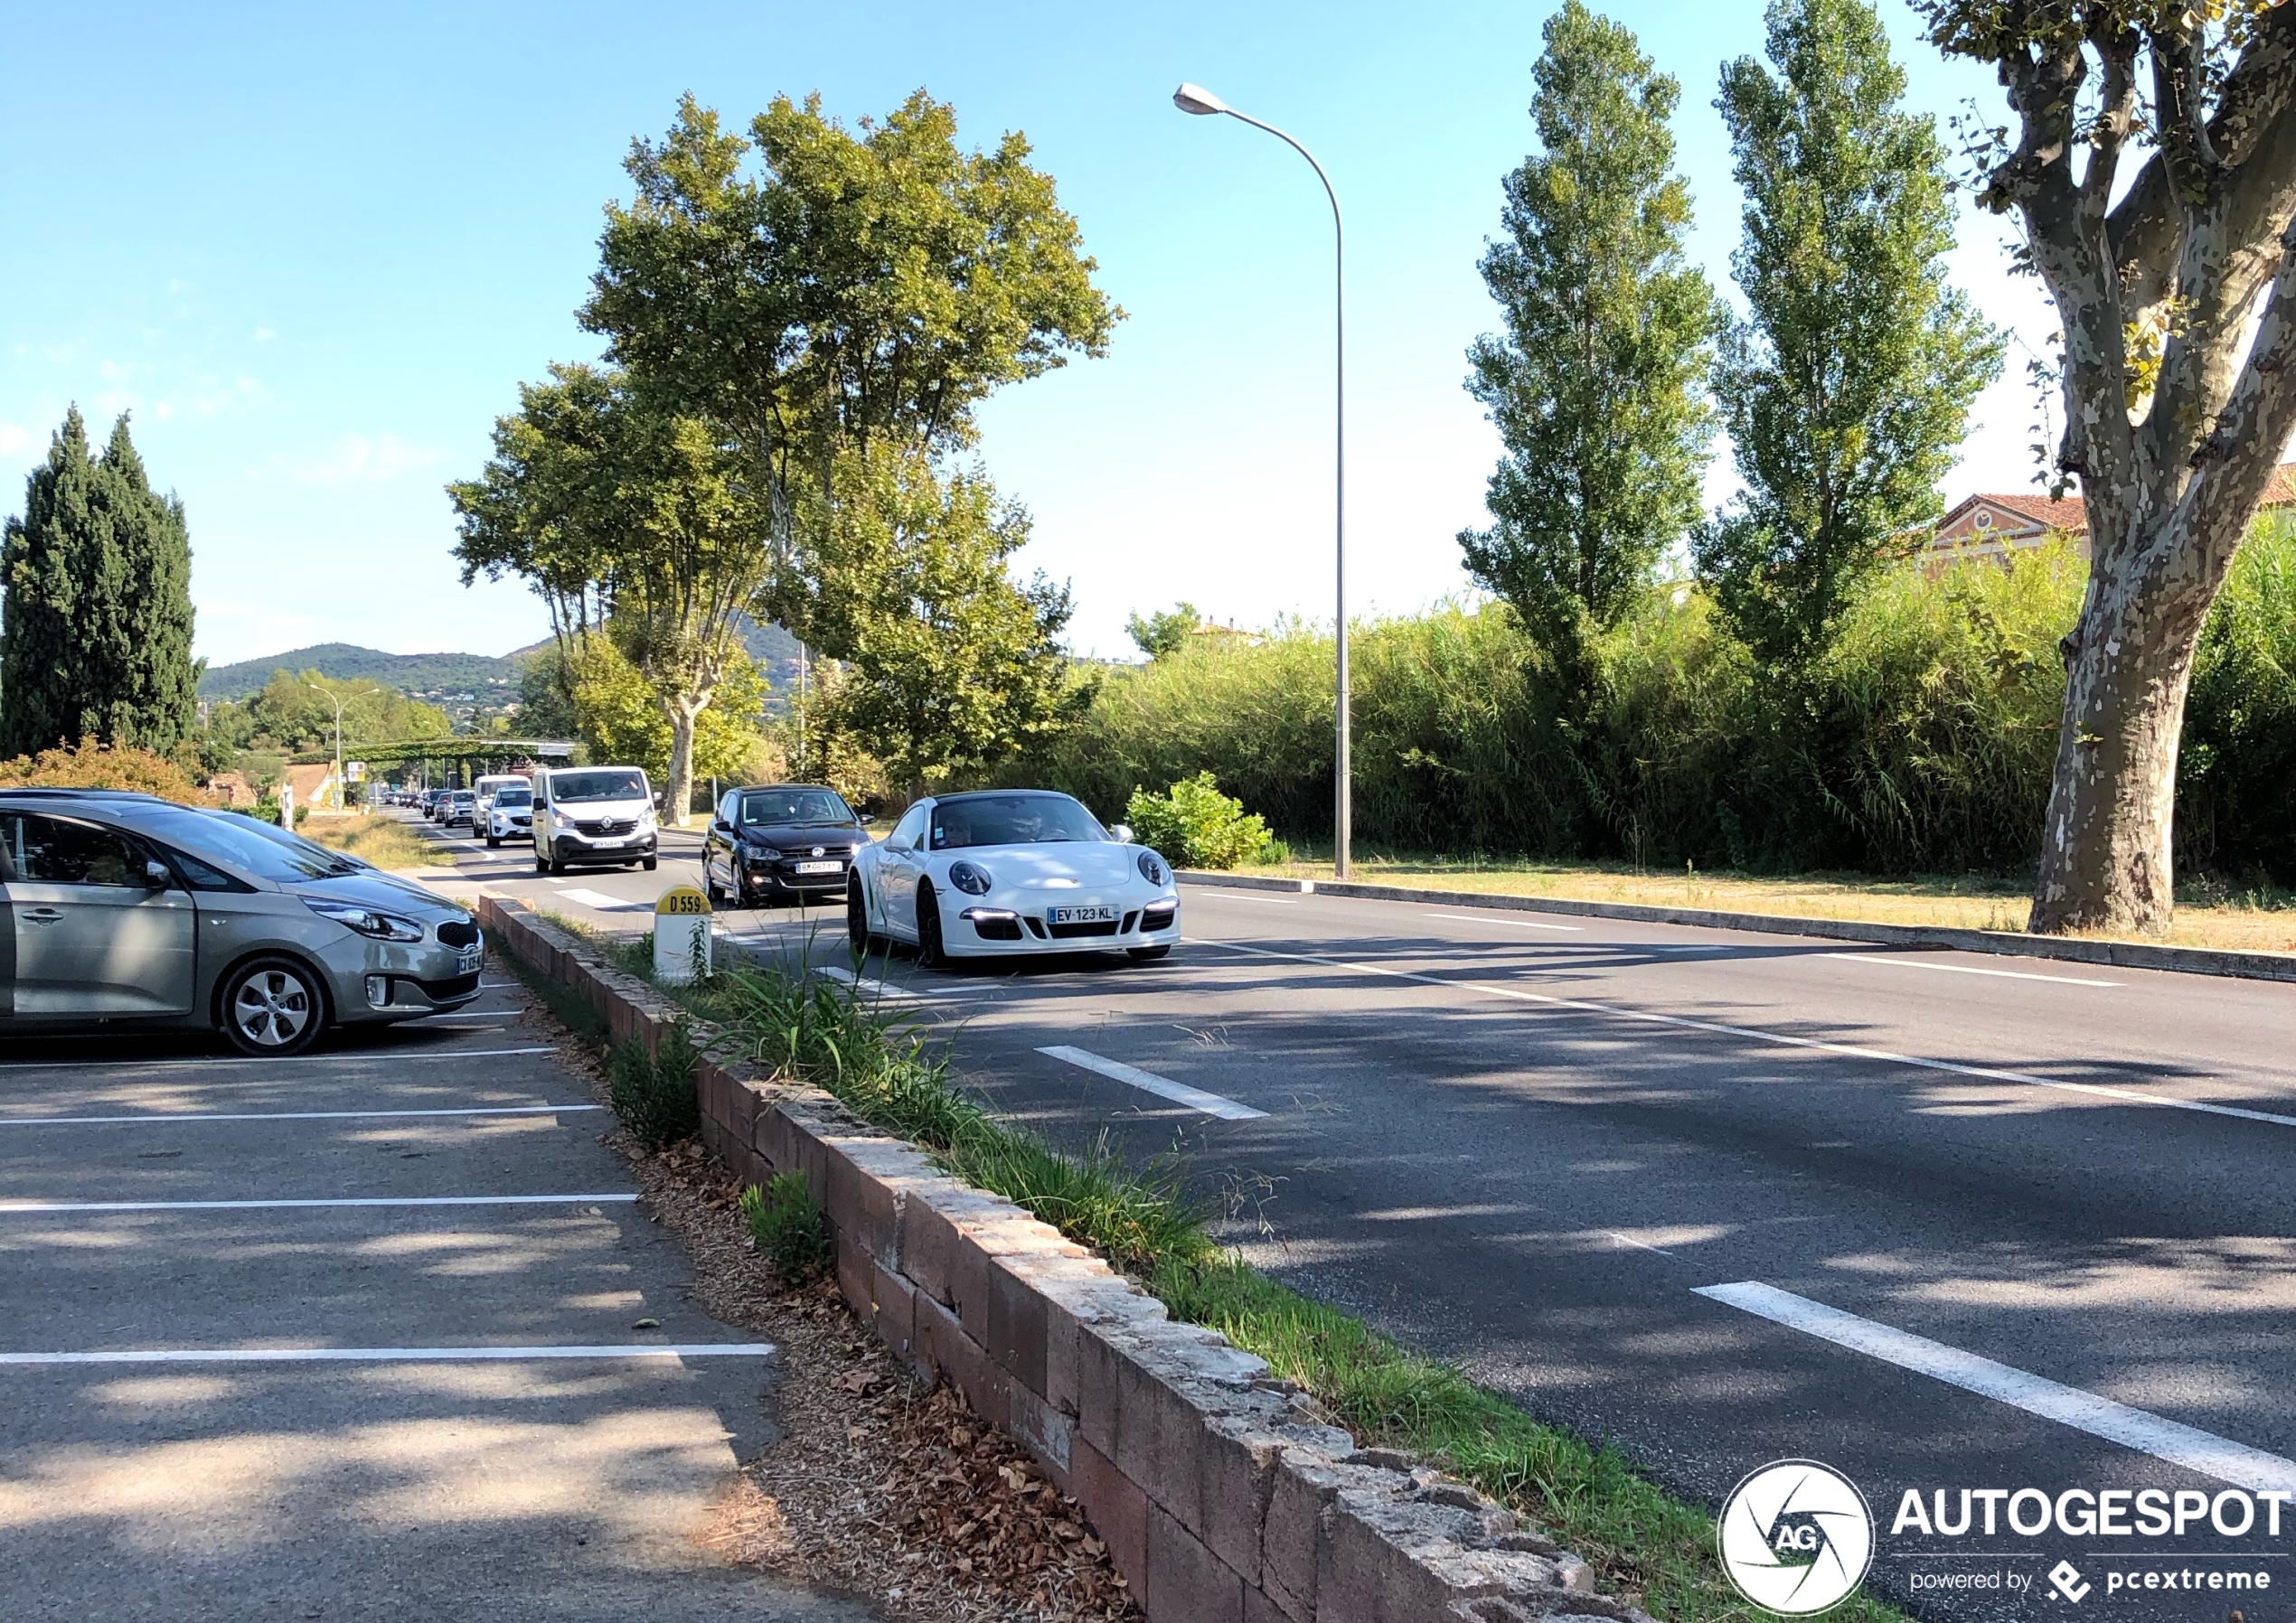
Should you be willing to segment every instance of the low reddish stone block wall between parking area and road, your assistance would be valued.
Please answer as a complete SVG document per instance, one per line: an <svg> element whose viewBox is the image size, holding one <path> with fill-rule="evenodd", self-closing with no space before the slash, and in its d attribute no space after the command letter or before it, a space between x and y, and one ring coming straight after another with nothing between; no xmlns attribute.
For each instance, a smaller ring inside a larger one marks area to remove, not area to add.
<svg viewBox="0 0 2296 1623"><path fill-rule="evenodd" d="M652 1047L677 1012L519 907L482 898L480 918L618 1042ZM806 1175L845 1299L1077 1497L1150 1623L1649 1623L1502 1506L1355 1449L1261 1359L827 1093L712 1061L698 1086L707 1148L744 1182Z"/></svg>

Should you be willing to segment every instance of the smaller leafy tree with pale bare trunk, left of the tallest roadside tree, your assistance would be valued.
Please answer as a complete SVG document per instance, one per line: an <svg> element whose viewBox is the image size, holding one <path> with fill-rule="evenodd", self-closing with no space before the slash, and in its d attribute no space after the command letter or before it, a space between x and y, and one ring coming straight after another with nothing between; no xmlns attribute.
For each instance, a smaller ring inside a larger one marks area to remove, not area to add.
<svg viewBox="0 0 2296 1623"><path fill-rule="evenodd" d="M696 723L771 574L739 455L622 374L569 365L521 386L487 471L448 487L464 585L526 578L576 689L597 638L645 677L670 728L664 815L677 824L693 801Z"/></svg>

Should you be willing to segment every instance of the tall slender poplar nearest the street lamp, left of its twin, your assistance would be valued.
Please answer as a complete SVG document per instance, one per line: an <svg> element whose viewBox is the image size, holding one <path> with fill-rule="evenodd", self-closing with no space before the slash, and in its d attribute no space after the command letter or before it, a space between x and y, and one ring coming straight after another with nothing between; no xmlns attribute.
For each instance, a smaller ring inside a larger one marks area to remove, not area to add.
<svg viewBox="0 0 2296 1623"><path fill-rule="evenodd" d="M1717 308L1683 253L1681 85L1580 0L1548 18L1531 78L1541 152L1506 177L1506 239L1483 255L1506 333L1467 351L1506 445L1497 523L1458 542L1476 581L1570 643L1614 624L1699 517Z"/></svg>

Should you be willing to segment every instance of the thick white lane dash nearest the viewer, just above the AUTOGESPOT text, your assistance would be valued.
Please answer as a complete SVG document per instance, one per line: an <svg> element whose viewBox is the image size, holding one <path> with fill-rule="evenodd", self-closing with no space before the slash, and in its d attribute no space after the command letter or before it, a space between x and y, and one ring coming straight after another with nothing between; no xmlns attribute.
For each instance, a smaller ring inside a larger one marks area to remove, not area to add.
<svg viewBox="0 0 2296 1623"><path fill-rule="evenodd" d="M2057 1421L2092 1437L2117 1442L2124 1449L2149 1453L2156 1460L2167 1460L2200 1476L2213 1476L2234 1488L2250 1492L2296 1492L2296 1460L2282 1460L2278 1453L2236 1444L2197 1426L2131 1410L2126 1403L2099 1398L2094 1391L2027 1375L2009 1364L1995 1364L1975 1352L1947 1348L1942 1341L1876 1325L1869 1318L1830 1309L1791 1290L1777 1290L1750 1279L1736 1286L1706 1286L1697 1295L1754 1313L1773 1325L1816 1336L1818 1341L1830 1341L1837 1348L1864 1352L1885 1364L1942 1380L1949 1387L1975 1391L1981 1398L2007 1403L2014 1410L2025 1410L2025 1414L2039 1414L2046 1421Z"/></svg>

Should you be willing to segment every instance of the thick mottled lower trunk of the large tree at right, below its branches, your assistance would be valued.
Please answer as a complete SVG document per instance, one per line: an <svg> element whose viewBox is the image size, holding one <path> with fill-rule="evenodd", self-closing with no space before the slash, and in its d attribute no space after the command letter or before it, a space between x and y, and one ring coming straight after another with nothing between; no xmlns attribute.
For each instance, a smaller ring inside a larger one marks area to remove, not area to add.
<svg viewBox="0 0 2296 1623"><path fill-rule="evenodd" d="M2163 528L2183 526L2172 517ZM2094 542L2089 592L2066 638L2064 725L2030 927L2163 934L2177 911L2183 696L2229 549L2216 562L2216 549L2174 533Z"/></svg>

